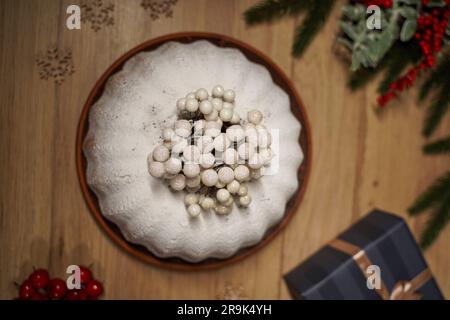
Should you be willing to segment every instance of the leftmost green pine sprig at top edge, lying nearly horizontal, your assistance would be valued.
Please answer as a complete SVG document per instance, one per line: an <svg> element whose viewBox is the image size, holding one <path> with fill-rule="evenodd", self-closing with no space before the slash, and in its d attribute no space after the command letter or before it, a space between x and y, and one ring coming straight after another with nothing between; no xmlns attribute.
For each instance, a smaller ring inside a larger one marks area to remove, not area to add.
<svg viewBox="0 0 450 320"><path fill-rule="evenodd" d="M306 10L311 2L312 0L262 0L244 12L244 19L248 25L272 22Z"/></svg>

